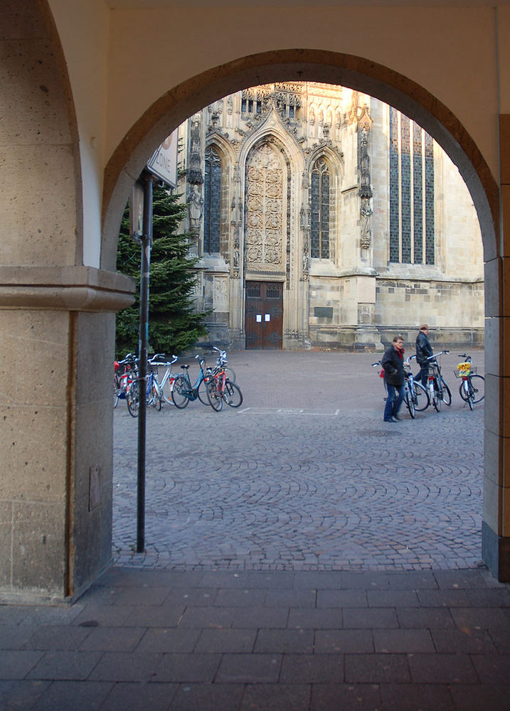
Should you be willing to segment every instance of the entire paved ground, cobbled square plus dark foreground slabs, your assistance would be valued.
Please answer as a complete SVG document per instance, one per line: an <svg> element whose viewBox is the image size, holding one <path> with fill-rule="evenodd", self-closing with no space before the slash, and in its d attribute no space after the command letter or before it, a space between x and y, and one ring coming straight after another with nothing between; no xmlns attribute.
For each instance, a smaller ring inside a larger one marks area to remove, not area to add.
<svg viewBox="0 0 510 711"><path fill-rule="evenodd" d="M73 605L0 604L0 709L509 711L510 585L479 563L482 410L453 392L386 429L371 356L353 375L354 356L317 354L311 388L309 354L286 355L280 391L238 356L245 412L151 413L167 448L144 554L116 413L125 565Z"/></svg>

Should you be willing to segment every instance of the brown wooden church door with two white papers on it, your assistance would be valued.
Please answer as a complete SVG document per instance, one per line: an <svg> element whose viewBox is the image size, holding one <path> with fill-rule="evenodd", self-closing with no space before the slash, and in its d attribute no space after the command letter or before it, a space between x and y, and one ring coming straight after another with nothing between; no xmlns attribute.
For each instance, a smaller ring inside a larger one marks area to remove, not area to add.
<svg viewBox="0 0 510 711"><path fill-rule="evenodd" d="M246 282L246 349L282 349L283 284Z"/></svg>

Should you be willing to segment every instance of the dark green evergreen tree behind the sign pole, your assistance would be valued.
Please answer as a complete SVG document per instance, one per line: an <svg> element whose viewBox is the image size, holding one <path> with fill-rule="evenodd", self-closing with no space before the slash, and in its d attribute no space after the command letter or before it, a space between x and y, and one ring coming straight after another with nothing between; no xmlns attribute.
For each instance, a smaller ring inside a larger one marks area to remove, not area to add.
<svg viewBox="0 0 510 711"><path fill-rule="evenodd" d="M196 282L198 257L188 256L188 235L176 230L186 215L165 188L154 186L152 200L152 256L149 279L149 348L154 353L182 353L206 333L191 294ZM117 314L116 353L137 351L139 331L140 247L129 235L129 204L122 217L117 250L117 270L134 277L136 301Z"/></svg>

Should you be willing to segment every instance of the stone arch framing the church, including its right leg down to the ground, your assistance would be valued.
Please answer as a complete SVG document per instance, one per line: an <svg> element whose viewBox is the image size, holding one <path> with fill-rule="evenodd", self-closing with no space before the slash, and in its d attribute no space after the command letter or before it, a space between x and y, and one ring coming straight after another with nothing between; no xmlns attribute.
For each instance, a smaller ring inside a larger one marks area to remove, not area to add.
<svg viewBox="0 0 510 711"><path fill-rule="evenodd" d="M495 344L488 369L487 399L499 403L499 186L487 163L462 124L445 105L407 77L364 58L321 50L277 50L251 55L221 65L174 87L147 109L124 137L105 173L103 193L102 266L115 263L120 216L133 181L147 156L169 132L201 107L244 87L274 81L320 81L365 92L414 119L457 165L474 201L482 230L486 262L487 343ZM491 451L504 447L500 408L491 408ZM486 424L487 428L487 424ZM500 579L510 579L510 539L504 537L504 477L501 461L486 448L484 560Z"/></svg>

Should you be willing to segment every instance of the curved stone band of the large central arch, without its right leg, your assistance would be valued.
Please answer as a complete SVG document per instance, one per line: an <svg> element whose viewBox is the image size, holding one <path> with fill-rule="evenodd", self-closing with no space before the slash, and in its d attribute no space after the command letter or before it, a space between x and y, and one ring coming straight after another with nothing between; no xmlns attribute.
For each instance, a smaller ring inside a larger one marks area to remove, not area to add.
<svg viewBox="0 0 510 711"><path fill-rule="evenodd" d="M191 77L166 92L138 119L105 169L102 267L115 268L118 226L129 189L147 156L173 129L202 107L245 87L305 80L359 90L423 126L450 156L469 188L482 227L486 259L498 254L498 186L477 145L450 109L413 80L366 58L287 49L248 55Z"/></svg>

